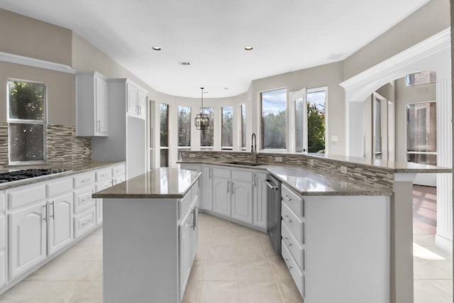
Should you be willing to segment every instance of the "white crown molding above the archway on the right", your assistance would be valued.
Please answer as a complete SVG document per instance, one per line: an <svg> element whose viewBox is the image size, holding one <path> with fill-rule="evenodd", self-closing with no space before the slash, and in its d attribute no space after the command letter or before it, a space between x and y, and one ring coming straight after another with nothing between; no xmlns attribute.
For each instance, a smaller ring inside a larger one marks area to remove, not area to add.
<svg viewBox="0 0 454 303"><path fill-rule="evenodd" d="M407 48L401 53L370 67L370 69L365 70L364 72L360 72L360 74L345 80L339 85L341 85L346 92L355 87L362 87L365 83L382 77L384 74L392 72L399 67L405 67L406 65L433 55L445 48L450 48L450 28L446 28L440 33L431 36L431 38L427 38L411 48Z"/></svg>

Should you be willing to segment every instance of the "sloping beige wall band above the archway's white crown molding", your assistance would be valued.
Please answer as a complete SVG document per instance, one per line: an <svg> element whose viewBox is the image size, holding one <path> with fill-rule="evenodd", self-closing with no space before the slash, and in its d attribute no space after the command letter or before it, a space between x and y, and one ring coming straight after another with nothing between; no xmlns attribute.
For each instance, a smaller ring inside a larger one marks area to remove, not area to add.
<svg viewBox="0 0 454 303"><path fill-rule="evenodd" d="M449 0L431 0L345 60L344 79L377 65L450 26ZM371 22L374 18L371 12Z"/></svg>

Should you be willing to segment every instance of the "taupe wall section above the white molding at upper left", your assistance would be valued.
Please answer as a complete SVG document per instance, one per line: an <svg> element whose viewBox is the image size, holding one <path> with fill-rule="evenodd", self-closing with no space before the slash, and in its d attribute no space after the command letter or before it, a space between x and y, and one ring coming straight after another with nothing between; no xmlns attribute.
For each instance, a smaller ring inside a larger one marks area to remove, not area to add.
<svg viewBox="0 0 454 303"><path fill-rule="evenodd" d="M71 65L71 31L0 9L0 51Z"/></svg>

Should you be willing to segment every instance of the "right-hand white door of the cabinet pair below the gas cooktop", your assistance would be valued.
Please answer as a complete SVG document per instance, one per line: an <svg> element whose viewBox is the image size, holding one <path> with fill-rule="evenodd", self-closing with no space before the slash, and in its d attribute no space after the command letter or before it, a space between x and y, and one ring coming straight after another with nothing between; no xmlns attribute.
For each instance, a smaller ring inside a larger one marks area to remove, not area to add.
<svg viewBox="0 0 454 303"><path fill-rule="evenodd" d="M65 194L48 203L49 255L67 246L74 239L72 204L72 193Z"/></svg>

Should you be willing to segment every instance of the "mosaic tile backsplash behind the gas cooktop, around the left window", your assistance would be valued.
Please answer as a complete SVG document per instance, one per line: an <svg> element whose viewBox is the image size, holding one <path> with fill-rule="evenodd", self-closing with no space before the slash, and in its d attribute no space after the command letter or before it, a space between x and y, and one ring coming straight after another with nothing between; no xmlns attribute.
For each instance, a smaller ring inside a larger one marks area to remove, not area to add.
<svg viewBox="0 0 454 303"><path fill-rule="evenodd" d="M75 126L48 124L47 158L50 163L81 165L92 160L92 138L76 137ZM0 165L8 165L8 123L0 122Z"/></svg>

